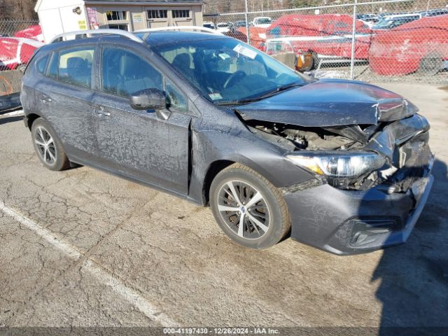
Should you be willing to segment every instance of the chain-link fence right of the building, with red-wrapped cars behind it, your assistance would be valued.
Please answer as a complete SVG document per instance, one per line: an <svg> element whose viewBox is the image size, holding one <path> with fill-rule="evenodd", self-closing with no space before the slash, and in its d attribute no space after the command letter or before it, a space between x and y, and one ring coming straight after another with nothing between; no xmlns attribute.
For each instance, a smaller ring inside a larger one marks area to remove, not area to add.
<svg viewBox="0 0 448 336"><path fill-rule="evenodd" d="M448 83L447 1L225 1L206 1L206 25L298 71Z"/></svg>

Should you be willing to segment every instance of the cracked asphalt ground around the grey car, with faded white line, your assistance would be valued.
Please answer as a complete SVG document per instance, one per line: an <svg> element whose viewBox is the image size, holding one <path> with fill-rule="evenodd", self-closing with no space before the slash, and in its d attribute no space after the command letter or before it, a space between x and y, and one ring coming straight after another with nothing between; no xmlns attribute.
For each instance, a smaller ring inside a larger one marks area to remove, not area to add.
<svg viewBox="0 0 448 336"><path fill-rule="evenodd" d="M448 91L382 86L430 120L435 184L407 244L346 257L290 239L251 251L207 208L50 172L21 117L0 116L0 326L448 327Z"/></svg>

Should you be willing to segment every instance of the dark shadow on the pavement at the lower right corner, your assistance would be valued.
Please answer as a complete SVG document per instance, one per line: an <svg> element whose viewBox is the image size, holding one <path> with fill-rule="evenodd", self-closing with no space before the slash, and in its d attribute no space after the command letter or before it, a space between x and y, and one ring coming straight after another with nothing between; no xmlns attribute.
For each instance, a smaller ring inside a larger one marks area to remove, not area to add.
<svg viewBox="0 0 448 336"><path fill-rule="evenodd" d="M448 335L447 165L436 160L426 207L406 244L386 248L372 281L380 281L379 335Z"/></svg>

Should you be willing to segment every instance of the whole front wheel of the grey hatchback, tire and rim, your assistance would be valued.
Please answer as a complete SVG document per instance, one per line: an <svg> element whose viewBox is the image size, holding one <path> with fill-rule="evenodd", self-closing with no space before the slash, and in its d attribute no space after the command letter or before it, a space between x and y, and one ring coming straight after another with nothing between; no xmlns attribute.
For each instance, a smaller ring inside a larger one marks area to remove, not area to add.
<svg viewBox="0 0 448 336"><path fill-rule="evenodd" d="M231 165L216 175L210 204L221 229L242 246L268 248L290 229L288 207L280 190L244 165Z"/></svg>

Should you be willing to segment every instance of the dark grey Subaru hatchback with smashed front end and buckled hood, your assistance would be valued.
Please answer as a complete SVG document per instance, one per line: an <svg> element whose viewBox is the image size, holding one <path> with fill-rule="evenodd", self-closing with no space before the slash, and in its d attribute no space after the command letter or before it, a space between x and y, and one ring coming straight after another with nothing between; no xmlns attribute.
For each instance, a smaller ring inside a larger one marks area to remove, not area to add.
<svg viewBox="0 0 448 336"><path fill-rule="evenodd" d="M112 33L31 60L21 99L45 167L210 205L251 248L288 232L339 254L407 239L433 183L429 125L407 99L308 78L228 36Z"/></svg>

